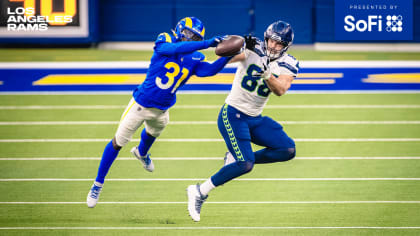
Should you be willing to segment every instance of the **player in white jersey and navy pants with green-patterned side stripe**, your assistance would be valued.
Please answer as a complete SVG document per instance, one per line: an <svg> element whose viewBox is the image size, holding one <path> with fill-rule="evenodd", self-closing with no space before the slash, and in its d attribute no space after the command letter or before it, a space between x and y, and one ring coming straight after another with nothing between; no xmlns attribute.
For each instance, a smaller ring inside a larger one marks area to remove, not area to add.
<svg viewBox="0 0 420 236"><path fill-rule="evenodd" d="M264 41L248 36L245 42L244 53L231 60L239 65L218 117L229 149L225 165L201 185L187 188L188 211L194 221L200 221L201 206L215 187L250 172L254 164L289 161L296 154L295 143L283 127L261 115L268 96L285 94L297 75L299 62L286 53L293 42L292 27L276 21L268 26ZM251 143L265 148L254 152Z"/></svg>

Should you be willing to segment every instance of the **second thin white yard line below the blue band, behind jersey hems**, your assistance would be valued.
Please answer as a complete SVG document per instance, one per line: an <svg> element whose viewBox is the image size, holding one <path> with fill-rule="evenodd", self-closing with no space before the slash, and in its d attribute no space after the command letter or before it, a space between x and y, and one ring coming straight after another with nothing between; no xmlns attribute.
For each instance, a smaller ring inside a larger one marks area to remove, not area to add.
<svg viewBox="0 0 420 236"><path fill-rule="evenodd" d="M42 106L0 106L0 110L55 110L55 109L124 109L127 105L42 105ZM220 109L219 105L175 105L171 109ZM265 109L372 109L372 108L420 108L420 105L399 104L399 105L267 105Z"/></svg>

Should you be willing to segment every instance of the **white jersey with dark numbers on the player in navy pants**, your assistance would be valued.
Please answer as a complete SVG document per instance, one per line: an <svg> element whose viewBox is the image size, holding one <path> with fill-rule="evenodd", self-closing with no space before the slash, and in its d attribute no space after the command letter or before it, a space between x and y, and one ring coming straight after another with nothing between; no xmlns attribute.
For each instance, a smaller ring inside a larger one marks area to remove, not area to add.
<svg viewBox="0 0 420 236"><path fill-rule="evenodd" d="M263 61L267 61L267 56L264 55L262 50L262 44L256 45L252 51L246 49L245 58L238 65L232 90L225 102L249 116L258 116L271 93L260 77L264 72ZM287 53L270 62L268 66L275 76L291 75L296 77L299 70L299 62Z"/></svg>

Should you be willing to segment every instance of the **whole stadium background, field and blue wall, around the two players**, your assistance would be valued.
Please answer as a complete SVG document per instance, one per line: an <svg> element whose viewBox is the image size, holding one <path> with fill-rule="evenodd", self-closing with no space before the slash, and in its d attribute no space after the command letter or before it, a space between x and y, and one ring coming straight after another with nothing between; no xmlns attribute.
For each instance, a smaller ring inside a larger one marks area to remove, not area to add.
<svg viewBox="0 0 420 236"><path fill-rule="evenodd" d="M369 4L381 1L390 3ZM411 38L401 40L337 40L337 2L0 0L0 235L419 235L420 1L391 1L412 6ZM8 30L19 7L73 21ZM216 118L229 65L180 91L151 150L156 172L130 157L136 134L100 203L87 209L100 155L145 78L153 41L185 16L203 21L206 38L262 37L273 21L292 24L289 53L301 70L263 114L296 140L296 159L217 189L202 221L190 220L185 188L223 164Z"/></svg>

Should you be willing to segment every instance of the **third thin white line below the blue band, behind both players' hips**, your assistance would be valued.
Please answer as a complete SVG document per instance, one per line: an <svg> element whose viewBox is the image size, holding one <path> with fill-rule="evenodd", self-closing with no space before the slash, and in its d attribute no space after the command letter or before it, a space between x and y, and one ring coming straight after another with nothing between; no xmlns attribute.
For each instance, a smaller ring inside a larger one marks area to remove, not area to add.
<svg viewBox="0 0 420 236"><path fill-rule="evenodd" d="M278 121L285 125L332 124L332 125L410 125L419 120L394 121ZM116 125L119 121L1 121L0 125ZM171 121L169 125L214 125L216 121Z"/></svg>

